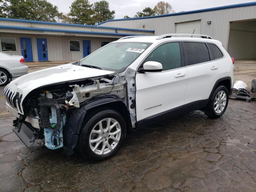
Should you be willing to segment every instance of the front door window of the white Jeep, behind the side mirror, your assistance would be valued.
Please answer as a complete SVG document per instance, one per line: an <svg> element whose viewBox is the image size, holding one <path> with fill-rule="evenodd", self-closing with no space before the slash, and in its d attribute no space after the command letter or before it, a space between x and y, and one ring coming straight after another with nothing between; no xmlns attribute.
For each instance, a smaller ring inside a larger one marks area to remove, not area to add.
<svg viewBox="0 0 256 192"><path fill-rule="evenodd" d="M156 61L162 64L163 71L181 67L180 44L172 42L160 45L147 58L147 61Z"/></svg>

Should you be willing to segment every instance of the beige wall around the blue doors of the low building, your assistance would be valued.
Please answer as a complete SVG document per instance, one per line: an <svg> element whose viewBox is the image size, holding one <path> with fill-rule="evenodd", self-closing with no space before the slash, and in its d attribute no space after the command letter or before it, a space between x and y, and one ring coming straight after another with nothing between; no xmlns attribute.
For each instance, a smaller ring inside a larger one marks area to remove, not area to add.
<svg viewBox="0 0 256 192"><path fill-rule="evenodd" d="M6 52L11 55L21 55L20 38L31 38L33 60L38 61L36 38L46 38L48 47L49 61L76 61L83 58L83 40L91 41L91 52L94 52L101 46L101 41L112 42L117 38L92 38L92 37L74 37L74 36L46 36L46 35L27 35L27 34L6 34L0 33L0 37L15 38L16 52ZM69 51L68 40L80 40L80 52Z"/></svg>

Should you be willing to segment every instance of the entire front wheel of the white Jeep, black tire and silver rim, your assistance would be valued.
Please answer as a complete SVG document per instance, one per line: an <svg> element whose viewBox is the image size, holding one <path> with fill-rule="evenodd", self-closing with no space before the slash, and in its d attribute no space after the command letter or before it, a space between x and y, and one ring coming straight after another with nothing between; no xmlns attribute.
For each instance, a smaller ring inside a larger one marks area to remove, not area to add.
<svg viewBox="0 0 256 192"><path fill-rule="evenodd" d="M82 129L78 150L86 158L96 161L113 156L126 136L126 122L114 110L102 110L92 116Z"/></svg>

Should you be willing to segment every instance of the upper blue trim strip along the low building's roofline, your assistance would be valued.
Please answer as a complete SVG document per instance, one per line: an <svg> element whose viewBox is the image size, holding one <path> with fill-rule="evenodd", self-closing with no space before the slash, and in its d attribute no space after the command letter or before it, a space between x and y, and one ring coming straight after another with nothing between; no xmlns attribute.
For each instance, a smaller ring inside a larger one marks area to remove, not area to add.
<svg viewBox="0 0 256 192"><path fill-rule="evenodd" d="M144 30L144 29L131 29L131 28L120 28L120 27L106 27L96 25L82 25L82 24L70 24L70 23L57 23L57 22L45 22L45 21L34 21L26 19L12 19L12 18L0 18L0 21L12 21L22 23L34 23L34 24L46 24L46 25L61 25L61 26L74 26L74 27L85 27L85 28L101 28L101 29L116 29L116 30L128 30L128 31L140 31L140 32L155 32L155 30Z"/></svg>

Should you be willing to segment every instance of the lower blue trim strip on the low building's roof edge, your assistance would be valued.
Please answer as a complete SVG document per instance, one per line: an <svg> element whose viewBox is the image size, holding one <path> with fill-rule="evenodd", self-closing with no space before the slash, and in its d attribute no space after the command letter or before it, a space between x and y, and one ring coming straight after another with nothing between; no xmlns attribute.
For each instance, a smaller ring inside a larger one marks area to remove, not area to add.
<svg viewBox="0 0 256 192"><path fill-rule="evenodd" d="M62 30L62 29L34 28L34 27L18 27L18 26L6 26L6 25L0 25L0 29L65 32L65 33L78 33L78 34L99 34L99 35L114 35L114 36L143 35L143 34L126 34L126 33L96 32L96 31L76 31L76 30Z"/></svg>

